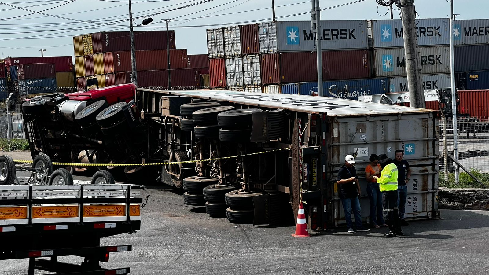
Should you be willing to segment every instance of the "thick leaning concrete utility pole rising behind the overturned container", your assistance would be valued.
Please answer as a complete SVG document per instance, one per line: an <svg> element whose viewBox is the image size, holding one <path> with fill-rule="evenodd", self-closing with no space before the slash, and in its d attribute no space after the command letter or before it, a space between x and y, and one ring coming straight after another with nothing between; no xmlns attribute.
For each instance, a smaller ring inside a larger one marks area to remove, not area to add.
<svg viewBox="0 0 489 275"><path fill-rule="evenodd" d="M409 103L411 107L425 108L414 0L400 0L399 8L404 37Z"/></svg>

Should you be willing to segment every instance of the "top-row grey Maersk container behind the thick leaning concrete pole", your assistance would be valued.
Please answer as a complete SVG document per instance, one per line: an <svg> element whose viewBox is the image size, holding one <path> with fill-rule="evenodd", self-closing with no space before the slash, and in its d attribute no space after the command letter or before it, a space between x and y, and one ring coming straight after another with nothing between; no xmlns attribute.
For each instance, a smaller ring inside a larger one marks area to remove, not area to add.
<svg viewBox="0 0 489 275"><path fill-rule="evenodd" d="M417 19L416 31L419 46L448 45L450 22L447 18ZM372 20L374 48L403 47L404 38L400 19Z"/></svg>

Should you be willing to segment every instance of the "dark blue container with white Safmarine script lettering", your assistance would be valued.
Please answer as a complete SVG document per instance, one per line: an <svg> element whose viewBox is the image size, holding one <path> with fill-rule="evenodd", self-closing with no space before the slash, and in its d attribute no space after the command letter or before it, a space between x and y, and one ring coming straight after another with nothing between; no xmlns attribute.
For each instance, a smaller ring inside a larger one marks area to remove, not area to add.
<svg viewBox="0 0 489 275"><path fill-rule="evenodd" d="M299 92L304 95L317 95L317 82L299 84ZM326 96L357 100L358 96L389 92L389 79L355 79L323 82Z"/></svg>

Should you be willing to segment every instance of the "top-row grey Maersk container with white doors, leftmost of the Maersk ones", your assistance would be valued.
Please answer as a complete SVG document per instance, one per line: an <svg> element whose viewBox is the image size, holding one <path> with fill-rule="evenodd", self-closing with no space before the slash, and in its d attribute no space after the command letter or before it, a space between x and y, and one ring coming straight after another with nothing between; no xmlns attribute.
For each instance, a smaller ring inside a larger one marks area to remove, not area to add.
<svg viewBox="0 0 489 275"><path fill-rule="evenodd" d="M367 21L321 21L322 49L368 48ZM316 38L311 21L277 21L258 24L261 53L313 51Z"/></svg>

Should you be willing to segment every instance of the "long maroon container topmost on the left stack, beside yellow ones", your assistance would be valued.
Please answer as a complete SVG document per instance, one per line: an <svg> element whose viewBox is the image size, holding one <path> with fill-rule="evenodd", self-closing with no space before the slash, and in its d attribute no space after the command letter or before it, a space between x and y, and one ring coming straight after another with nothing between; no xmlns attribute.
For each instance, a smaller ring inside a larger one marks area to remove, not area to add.
<svg viewBox="0 0 489 275"><path fill-rule="evenodd" d="M128 31L105 31L92 33L93 53L131 50L131 36ZM170 49L175 49L175 31L168 33ZM166 49L166 31L135 31L136 50Z"/></svg>

